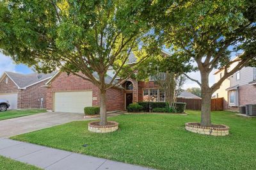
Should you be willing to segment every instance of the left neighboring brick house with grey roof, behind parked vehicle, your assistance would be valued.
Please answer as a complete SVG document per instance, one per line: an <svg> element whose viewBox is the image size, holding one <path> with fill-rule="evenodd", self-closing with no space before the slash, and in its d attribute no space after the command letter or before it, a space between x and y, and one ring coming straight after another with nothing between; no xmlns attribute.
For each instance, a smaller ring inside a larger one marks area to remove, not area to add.
<svg viewBox="0 0 256 170"><path fill-rule="evenodd" d="M47 90L42 86L53 74L4 72L0 78L0 98L10 102L10 109L45 108Z"/></svg>

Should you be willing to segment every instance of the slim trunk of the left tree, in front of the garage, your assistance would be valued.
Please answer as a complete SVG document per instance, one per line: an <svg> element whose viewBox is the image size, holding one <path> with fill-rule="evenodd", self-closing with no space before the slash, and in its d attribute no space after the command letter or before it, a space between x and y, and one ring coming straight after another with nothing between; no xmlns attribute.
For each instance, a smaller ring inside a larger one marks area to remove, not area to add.
<svg viewBox="0 0 256 170"><path fill-rule="evenodd" d="M100 125L107 125L106 90L100 90Z"/></svg>

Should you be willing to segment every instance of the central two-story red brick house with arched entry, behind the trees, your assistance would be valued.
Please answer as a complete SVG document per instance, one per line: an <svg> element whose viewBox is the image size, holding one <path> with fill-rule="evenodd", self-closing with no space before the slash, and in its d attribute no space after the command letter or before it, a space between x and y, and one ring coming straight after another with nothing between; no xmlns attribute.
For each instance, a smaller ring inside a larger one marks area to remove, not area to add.
<svg viewBox="0 0 256 170"><path fill-rule="evenodd" d="M169 55L163 51L163 55ZM129 56L129 63L136 62L133 54ZM115 71L109 68L105 82L111 81ZM93 73L99 79L96 73ZM117 78L118 79L118 78ZM46 82L47 88L47 110L56 112L83 112L86 106L99 106L100 91L92 82L85 81L76 75L67 75L58 72ZM132 102L165 102L164 91L157 87L154 77L148 82L128 79L121 86L115 86L107 91L107 111L122 111ZM199 98L184 91L180 94L182 98Z"/></svg>

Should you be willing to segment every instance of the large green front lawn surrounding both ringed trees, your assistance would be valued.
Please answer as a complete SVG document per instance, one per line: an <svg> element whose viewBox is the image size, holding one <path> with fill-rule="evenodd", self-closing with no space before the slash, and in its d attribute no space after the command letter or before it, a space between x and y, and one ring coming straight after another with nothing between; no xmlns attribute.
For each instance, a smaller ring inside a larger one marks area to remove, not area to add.
<svg viewBox="0 0 256 170"><path fill-rule="evenodd" d="M184 123L200 120L198 111L187 112L116 116L109 120L120 130L109 134L88 132L88 121L76 121L12 139L156 169L256 169L256 119L212 112L213 123L230 127L230 135L214 137L186 131Z"/></svg>

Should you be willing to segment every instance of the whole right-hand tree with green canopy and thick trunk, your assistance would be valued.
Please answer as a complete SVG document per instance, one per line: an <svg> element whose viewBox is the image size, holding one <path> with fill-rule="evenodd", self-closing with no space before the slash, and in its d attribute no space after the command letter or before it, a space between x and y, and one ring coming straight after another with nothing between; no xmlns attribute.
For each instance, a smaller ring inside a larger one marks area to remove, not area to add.
<svg viewBox="0 0 256 170"><path fill-rule="evenodd" d="M166 46L173 54L190 58L200 72L200 81L185 75L202 90L202 126L211 126L212 93L237 70L255 64L255 11L255 3L247 0L182 1L156 15L154 25ZM236 59L232 59L234 53L239 54ZM223 66L223 77L210 86L210 73Z"/></svg>

